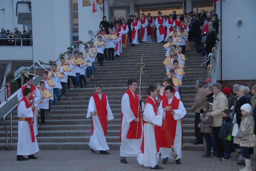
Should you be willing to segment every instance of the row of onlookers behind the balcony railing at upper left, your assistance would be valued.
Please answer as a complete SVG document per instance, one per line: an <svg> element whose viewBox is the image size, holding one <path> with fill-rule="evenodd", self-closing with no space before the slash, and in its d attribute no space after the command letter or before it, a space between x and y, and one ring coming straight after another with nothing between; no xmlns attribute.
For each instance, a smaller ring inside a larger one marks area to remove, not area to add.
<svg viewBox="0 0 256 171"><path fill-rule="evenodd" d="M20 32L17 27L14 28L14 32L12 30L4 30L1 28L0 32L0 45L1 46L32 46L32 30L28 32L26 30ZM29 39L26 39L29 38ZM16 43L16 44L15 44Z"/></svg>

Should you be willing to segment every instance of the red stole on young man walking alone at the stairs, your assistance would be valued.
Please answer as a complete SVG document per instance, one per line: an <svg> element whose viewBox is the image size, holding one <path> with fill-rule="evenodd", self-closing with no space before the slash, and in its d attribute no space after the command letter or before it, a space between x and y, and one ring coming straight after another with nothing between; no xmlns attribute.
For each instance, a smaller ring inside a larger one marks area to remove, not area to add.
<svg viewBox="0 0 256 171"><path fill-rule="evenodd" d="M106 117L108 115L108 110L106 109L106 104L107 104L106 95L101 93L101 99L100 99L98 94L94 93L93 99L94 99L94 103L99 116L100 124L104 132L104 136L106 136L106 131L108 127L108 122L106 120ZM91 135L93 135L93 130L94 130L93 117L91 117Z"/></svg>

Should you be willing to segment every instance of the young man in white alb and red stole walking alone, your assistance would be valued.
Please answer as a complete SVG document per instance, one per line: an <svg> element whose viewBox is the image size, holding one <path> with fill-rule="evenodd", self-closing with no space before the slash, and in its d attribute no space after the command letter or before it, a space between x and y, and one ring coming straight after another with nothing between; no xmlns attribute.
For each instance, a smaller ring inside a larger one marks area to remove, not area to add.
<svg viewBox="0 0 256 171"><path fill-rule="evenodd" d="M112 111L109 106L108 97L101 93L102 86L97 84L94 86L95 93L91 96L87 116L91 117L91 138L89 146L91 151L100 150L100 154L110 154L108 143L106 142L106 132L108 123L114 119Z"/></svg>

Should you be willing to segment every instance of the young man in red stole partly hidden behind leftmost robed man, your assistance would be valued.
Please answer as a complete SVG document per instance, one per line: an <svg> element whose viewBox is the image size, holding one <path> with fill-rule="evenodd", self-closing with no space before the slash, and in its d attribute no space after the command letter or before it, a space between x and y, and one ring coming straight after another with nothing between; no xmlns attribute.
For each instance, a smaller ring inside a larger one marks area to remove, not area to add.
<svg viewBox="0 0 256 171"><path fill-rule="evenodd" d="M37 136L37 127L38 127L38 121L37 121L37 116L38 116L38 109L37 107L39 107L39 102L40 102L40 92L38 90L38 88L36 88L35 86L33 86L33 78L32 77L28 77L27 78L27 84L25 84L22 88L19 89L18 91L18 101L20 101L23 98L23 90L25 88L30 88L31 89L31 94L33 94L33 91L35 92L35 97L34 97L34 106L35 108L33 109L34 112L34 117L33 117L33 127L34 127L34 134L35 136ZM29 104L32 104L32 100L33 97L31 95L31 97L29 97Z"/></svg>

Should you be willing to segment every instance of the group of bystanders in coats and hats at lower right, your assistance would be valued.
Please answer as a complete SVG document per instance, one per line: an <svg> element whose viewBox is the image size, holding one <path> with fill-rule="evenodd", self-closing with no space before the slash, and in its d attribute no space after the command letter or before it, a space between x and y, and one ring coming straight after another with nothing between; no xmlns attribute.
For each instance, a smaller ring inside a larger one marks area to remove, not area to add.
<svg viewBox="0 0 256 171"><path fill-rule="evenodd" d="M191 110L195 112L195 136L192 144L203 144L207 150L202 157L211 155L221 161L229 161L231 152L241 148L235 157L238 165L245 166L243 171L251 170L250 154L255 146L256 85L249 87L234 84L233 94L228 87L215 83L204 88L202 80L196 81L196 97ZM249 94L251 92L251 94ZM234 132L232 123L239 130ZM236 148L235 148L236 145Z"/></svg>

